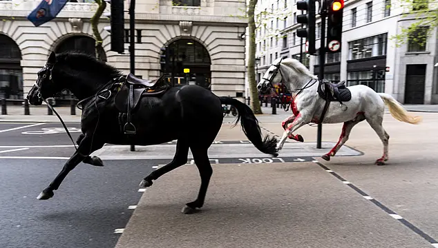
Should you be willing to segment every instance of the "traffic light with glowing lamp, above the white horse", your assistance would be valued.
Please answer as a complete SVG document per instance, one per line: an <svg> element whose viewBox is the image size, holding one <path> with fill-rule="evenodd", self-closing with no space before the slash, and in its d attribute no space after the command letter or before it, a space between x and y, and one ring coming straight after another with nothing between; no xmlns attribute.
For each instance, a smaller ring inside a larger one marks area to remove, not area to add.
<svg viewBox="0 0 438 248"><path fill-rule="evenodd" d="M328 1L327 52L341 52L343 0Z"/></svg>

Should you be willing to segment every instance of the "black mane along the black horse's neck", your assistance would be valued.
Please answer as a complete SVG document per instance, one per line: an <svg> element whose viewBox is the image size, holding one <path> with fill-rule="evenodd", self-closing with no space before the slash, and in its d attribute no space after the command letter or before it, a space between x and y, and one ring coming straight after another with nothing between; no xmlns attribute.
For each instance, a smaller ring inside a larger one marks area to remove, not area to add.
<svg viewBox="0 0 438 248"><path fill-rule="evenodd" d="M57 63L66 63L72 68L90 71L115 78L122 76L122 72L111 65L98 61L94 56L81 51L66 51L56 55Z"/></svg>

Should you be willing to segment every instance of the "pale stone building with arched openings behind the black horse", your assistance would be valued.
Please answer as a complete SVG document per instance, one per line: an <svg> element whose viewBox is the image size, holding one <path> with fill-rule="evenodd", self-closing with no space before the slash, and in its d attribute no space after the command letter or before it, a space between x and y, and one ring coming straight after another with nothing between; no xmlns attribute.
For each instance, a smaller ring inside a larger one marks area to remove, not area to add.
<svg viewBox="0 0 438 248"><path fill-rule="evenodd" d="M56 19L35 27L26 19L41 0L0 1L0 98L22 99L37 79L51 51L83 50L93 54L95 39L89 20L97 5L70 1ZM175 85L196 83L219 96L242 97L245 92L244 0L140 0L135 9L135 74L160 76L160 48L175 50ZM124 1L128 10L129 1ZM108 4L106 12L110 11ZM111 52L109 25L102 16L104 60L129 72L125 15L125 54ZM190 74L184 74L184 68ZM187 80L188 79L188 80ZM70 96L66 96L68 99ZM59 99L58 99L59 100ZM57 102L60 102L57 101Z"/></svg>

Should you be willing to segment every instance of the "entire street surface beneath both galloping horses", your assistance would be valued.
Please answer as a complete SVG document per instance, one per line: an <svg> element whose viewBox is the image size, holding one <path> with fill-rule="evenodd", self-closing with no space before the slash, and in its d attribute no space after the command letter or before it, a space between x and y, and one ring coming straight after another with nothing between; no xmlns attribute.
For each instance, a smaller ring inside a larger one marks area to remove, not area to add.
<svg viewBox="0 0 438 248"><path fill-rule="evenodd" d="M35 120L46 121L40 123L3 122L0 173L10 192L0 197L5 219L0 225L10 235L0 239L0 247L438 247L438 114L412 114L423 116L423 123L401 123L385 114L383 127L390 134L385 166L374 165L382 145L366 122L354 127L339 154L323 161L341 123L323 125L323 149L316 149L316 125L305 125L296 132L305 143L288 141L272 158L247 141L240 125L231 128L234 117L227 116L209 149L213 176L205 205L192 215L180 212L200 185L190 158L137 193L145 174L169 163L174 142L136 146L133 153L128 146L106 145L95 154L108 167L78 166L53 199L41 202L35 197L73 147L56 116L35 114L41 118ZM285 116L289 113L278 109L277 115L257 118L264 134L280 136ZM79 123L68 127L79 134ZM56 218L48 218L53 212ZM59 245L61 238L66 240Z"/></svg>

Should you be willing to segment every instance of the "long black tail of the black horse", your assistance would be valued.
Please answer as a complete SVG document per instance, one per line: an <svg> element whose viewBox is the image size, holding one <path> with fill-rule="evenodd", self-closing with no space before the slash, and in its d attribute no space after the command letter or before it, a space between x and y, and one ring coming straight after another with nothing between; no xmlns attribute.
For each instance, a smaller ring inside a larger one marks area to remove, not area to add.
<svg viewBox="0 0 438 248"><path fill-rule="evenodd" d="M236 107L238 115L234 125L237 125L238 121L240 121L243 132L260 152L278 156L276 149L278 142L277 139L266 135L262 141L262 132L258 125L258 120L256 116L254 116L250 107L245 103L232 99L231 97L221 96L219 99L222 104L233 105Z"/></svg>

